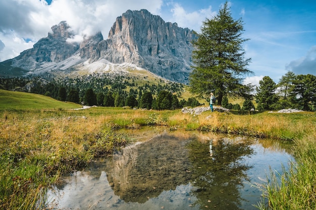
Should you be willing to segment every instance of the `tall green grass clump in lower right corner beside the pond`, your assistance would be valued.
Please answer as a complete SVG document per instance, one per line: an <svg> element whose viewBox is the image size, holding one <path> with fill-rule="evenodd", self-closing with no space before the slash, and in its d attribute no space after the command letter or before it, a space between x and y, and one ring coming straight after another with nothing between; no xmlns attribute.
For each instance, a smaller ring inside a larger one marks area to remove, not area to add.
<svg viewBox="0 0 316 210"><path fill-rule="evenodd" d="M272 179L264 186L264 196L256 205L261 210L316 209L316 135L295 140L296 162L283 175L271 171Z"/></svg>

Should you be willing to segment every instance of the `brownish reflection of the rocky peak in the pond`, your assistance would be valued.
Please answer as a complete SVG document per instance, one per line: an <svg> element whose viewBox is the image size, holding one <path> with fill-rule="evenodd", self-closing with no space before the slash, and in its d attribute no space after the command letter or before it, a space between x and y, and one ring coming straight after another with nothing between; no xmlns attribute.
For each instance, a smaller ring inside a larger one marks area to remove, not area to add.
<svg viewBox="0 0 316 210"><path fill-rule="evenodd" d="M188 184L191 180L185 148L188 141L189 138L179 141L175 136L164 134L137 148L124 149L121 156L107 161L105 170L115 194L125 202L144 203L163 191Z"/></svg>

